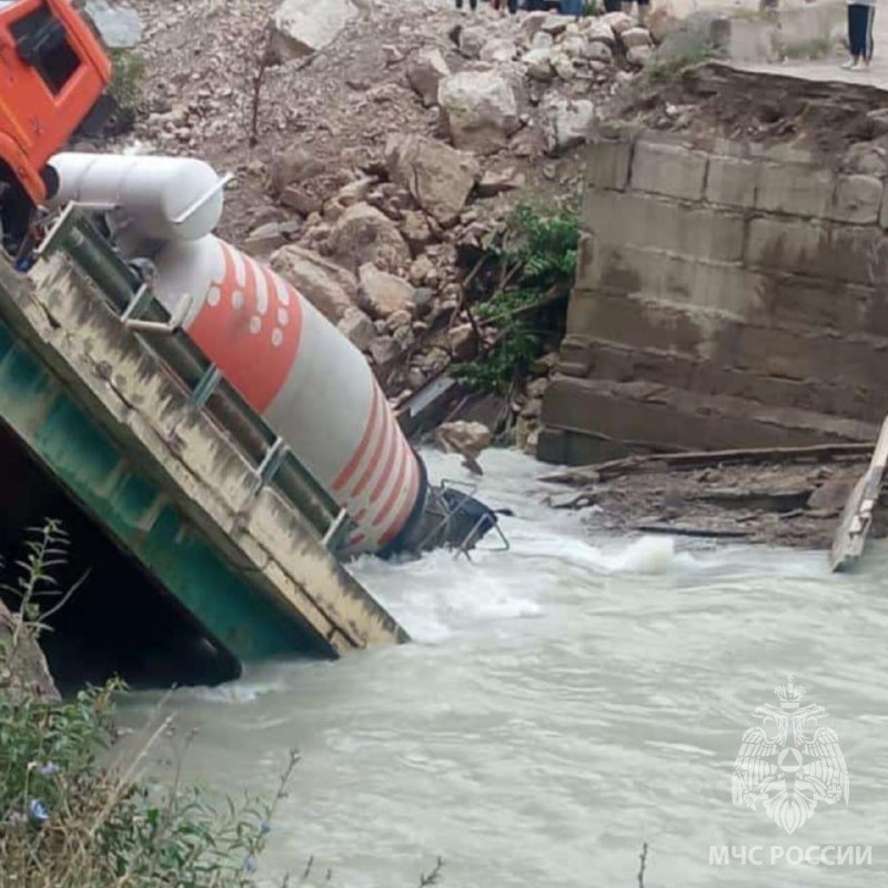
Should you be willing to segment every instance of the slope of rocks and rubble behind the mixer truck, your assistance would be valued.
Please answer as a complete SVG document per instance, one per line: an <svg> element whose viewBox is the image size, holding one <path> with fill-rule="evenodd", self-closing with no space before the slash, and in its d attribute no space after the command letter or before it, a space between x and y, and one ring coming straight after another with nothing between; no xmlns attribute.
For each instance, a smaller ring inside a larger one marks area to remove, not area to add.
<svg viewBox="0 0 888 888"><path fill-rule="evenodd" d="M224 233L335 323L398 403L495 336L464 311L464 256L527 191L577 195L574 149L653 41L623 13L387 2L139 0L152 99L135 135L234 169Z"/></svg>

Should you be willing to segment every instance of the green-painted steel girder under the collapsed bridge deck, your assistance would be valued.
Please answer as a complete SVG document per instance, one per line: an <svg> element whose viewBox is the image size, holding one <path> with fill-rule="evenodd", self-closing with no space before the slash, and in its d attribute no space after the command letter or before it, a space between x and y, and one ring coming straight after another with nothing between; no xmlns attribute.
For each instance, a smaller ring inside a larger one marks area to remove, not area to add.
<svg viewBox="0 0 888 888"><path fill-rule="evenodd" d="M235 657L312 650L294 615L222 557L2 322L0 420Z"/></svg>

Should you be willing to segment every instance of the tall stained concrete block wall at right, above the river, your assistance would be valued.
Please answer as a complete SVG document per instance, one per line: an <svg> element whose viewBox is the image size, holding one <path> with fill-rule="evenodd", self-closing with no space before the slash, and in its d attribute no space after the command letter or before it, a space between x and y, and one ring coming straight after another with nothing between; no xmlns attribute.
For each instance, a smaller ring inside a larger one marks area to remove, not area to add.
<svg viewBox="0 0 888 888"><path fill-rule="evenodd" d="M591 145L541 457L875 436L888 411L888 165L870 168L637 130Z"/></svg>

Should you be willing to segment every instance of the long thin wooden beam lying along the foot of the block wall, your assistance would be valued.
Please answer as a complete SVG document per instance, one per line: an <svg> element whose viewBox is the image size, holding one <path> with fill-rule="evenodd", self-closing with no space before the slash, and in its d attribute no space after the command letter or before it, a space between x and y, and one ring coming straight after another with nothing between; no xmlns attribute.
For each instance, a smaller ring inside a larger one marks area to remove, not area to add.
<svg viewBox="0 0 888 888"><path fill-rule="evenodd" d="M577 466L575 468L539 475L537 481L556 484L586 484L591 481L644 472L648 468L705 468L729 463L779 463L801 460L831 460L836 457L862 457L872 450L872 444L811 444L800 447L749 447L729 451L693 451L687 453L652 453L610 460L605 463Z"/></svg>

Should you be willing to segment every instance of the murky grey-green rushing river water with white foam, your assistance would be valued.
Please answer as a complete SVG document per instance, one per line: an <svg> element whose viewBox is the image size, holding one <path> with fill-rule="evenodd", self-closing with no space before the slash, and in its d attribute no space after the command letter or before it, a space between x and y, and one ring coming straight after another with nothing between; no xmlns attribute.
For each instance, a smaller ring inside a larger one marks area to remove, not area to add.
<svg viewBox="0 0 888 888"><path fill-rule="evenodd" d="M457 888L635 886L643 842L648 888L884 884L888 556L834 577L824 553L599 538L543 504L541 464L483 464L483 498L516 513L509 552L355 567L412 644L169 700L196 729L188 776L220 790L270 794L301 750L269 884L311 856L313 885L414 888L441 856ZM850 785L791 836L731 804L744 731L787 674L826 709ZM723 846L729 865L710 860ZM841 854L861 864L828 865Z"/></svg>

